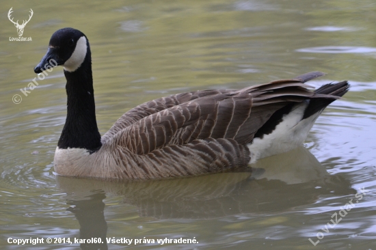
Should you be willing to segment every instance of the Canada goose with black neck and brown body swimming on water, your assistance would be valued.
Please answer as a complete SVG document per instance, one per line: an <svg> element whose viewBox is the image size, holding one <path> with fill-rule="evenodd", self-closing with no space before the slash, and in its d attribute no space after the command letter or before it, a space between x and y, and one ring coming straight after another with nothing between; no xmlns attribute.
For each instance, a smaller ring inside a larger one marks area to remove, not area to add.
<svg viewBox="0 0 376 250"><path fill-rule="evenodd" d="M96 124L92 57L79 30L53 33L37 74L64 67L67 115L53 160L55 173L120 180L177 178L247 167L303 144L323 109L349 90L312 90L309 72L243 89L209 89L145 102L103 137Z"/></svg>

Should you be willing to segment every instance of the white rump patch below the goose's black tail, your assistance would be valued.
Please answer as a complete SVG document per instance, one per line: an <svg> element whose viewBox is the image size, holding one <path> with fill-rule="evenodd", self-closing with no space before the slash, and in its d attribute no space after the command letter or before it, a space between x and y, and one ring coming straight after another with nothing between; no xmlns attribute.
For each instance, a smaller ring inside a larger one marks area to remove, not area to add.
<svg viewBox="0 0 376 250"><path fill-rule="evenodd" d="M321 113L319 111L301 120L307 106L308 101L295 105L290 113L282 117L282 122L276 126L272 133L264 135L262 139L255 138L252 144L248 144L251 152L250 163L255 163L260 158L293 150L303 144Z"/></svg>

